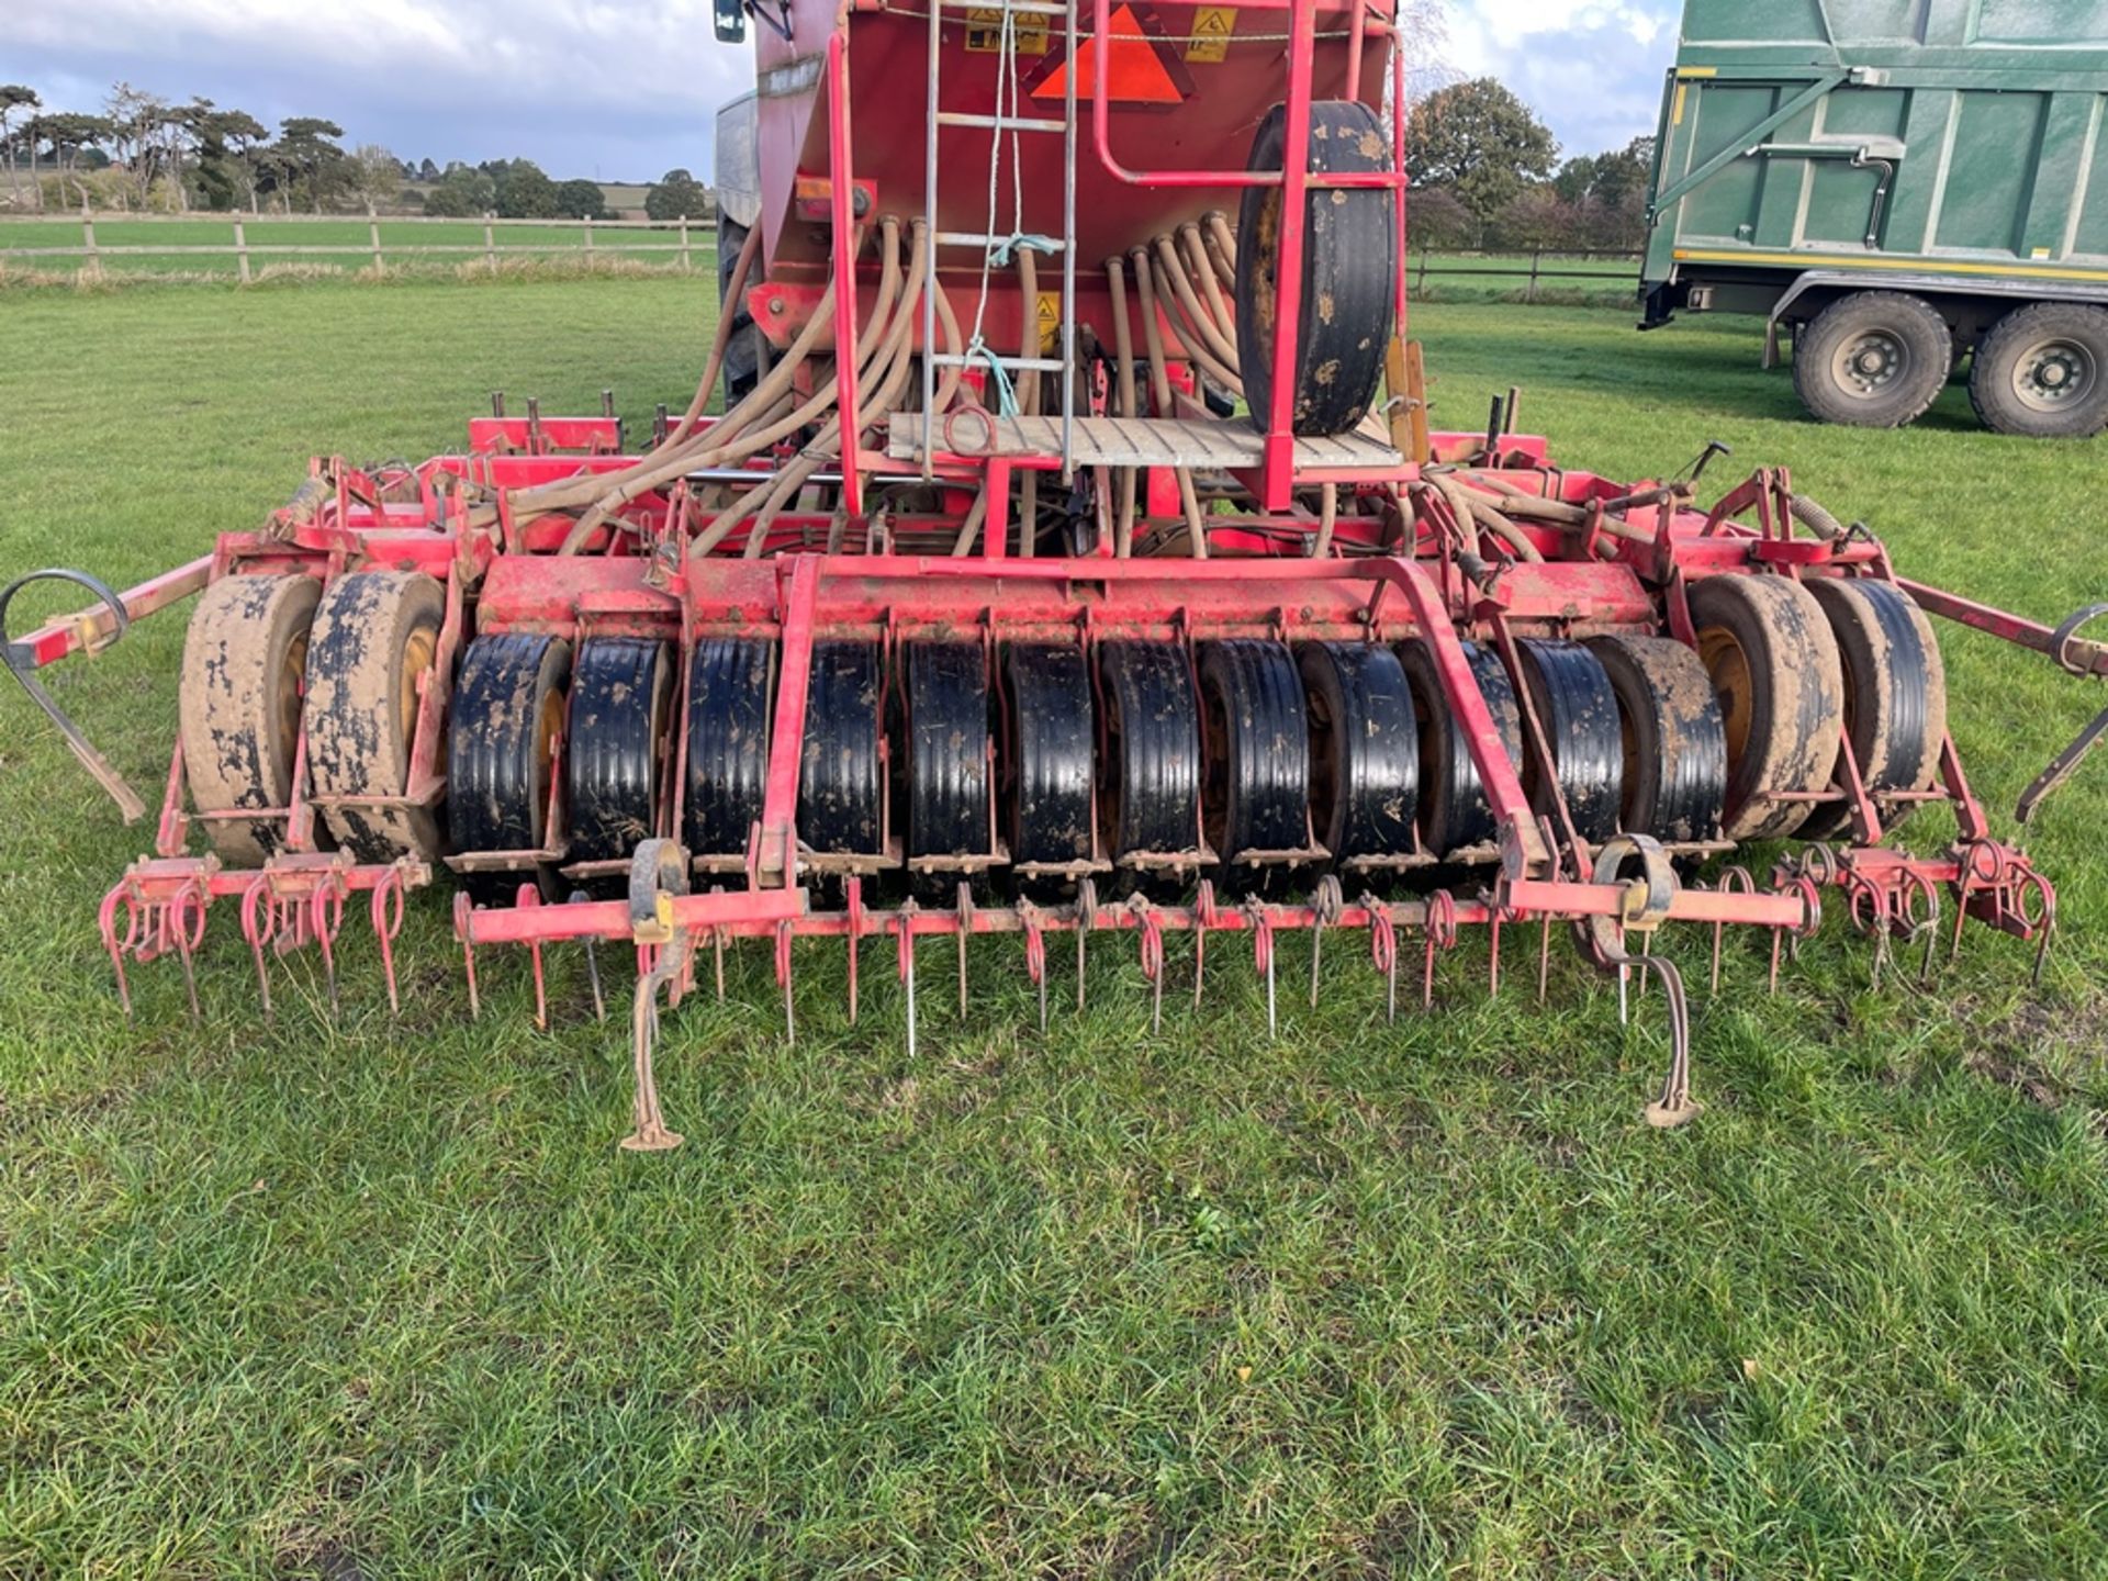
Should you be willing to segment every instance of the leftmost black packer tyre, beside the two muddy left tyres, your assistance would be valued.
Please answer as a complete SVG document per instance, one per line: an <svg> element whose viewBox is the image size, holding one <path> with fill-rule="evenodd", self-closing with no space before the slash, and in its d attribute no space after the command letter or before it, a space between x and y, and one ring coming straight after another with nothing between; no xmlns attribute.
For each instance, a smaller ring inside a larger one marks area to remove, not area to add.
<svg viewBox="0 0 2108 1581"><path fill-rule="evenodd" d="M571 645L538 632L479 637L462 660L447 723L447 818L457 852L538 852L563 740ZM510 904L521 883L557 898L550 864L462 873L472 900Z"/></svg>

